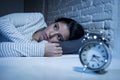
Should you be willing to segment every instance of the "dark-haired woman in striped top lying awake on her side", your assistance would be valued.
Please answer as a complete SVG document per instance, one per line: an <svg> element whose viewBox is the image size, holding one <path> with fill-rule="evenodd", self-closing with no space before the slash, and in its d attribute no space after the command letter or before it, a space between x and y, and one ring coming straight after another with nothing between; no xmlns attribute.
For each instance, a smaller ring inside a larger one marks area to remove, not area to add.
<svg viewBox="0 0 120 80"><path fill-rule="evenodd" d="M0 56L61 56L60 41L84 35L80 24L59 18L47 27L41 13L13 13L0 18Z"/></svg>

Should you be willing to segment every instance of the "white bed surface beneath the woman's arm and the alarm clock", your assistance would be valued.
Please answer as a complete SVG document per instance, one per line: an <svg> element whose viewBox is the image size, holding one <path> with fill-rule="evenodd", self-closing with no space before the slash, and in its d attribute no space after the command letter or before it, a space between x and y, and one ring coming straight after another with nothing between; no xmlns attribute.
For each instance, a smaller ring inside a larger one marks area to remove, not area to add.
<svg viewBox="0 0 120 80"><path fill-rule="evenodd" d="M113 58L106 74L82 71L77 54L62 57L1 57L0 80L120 80L120 59Z"/></svg>

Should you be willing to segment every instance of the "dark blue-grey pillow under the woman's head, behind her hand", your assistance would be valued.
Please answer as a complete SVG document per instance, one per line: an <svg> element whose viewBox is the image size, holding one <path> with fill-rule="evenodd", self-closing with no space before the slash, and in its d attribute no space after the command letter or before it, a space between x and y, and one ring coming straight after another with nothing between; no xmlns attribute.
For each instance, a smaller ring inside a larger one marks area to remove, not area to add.
<svg viewBox="0 0 120 80"><path fill-rule="evenodd" d="M82 38L78 40L60 42L60 46L63 49L63 54L76 54L82 46Z"/></svg>

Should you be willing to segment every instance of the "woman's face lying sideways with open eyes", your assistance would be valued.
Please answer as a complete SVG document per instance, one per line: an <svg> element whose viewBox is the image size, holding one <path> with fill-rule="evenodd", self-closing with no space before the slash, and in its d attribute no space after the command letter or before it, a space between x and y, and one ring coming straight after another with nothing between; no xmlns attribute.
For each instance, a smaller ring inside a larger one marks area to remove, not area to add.
<svg viewBox="0 0 120 80"><path fill-rule="evenodd" d="M39 40L47 40L48 42L60 42L69 39L69 29L66 24L56 22L48 26L39 34Z"/></svg>

